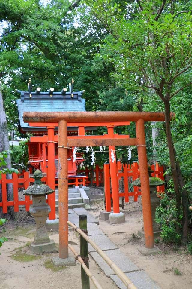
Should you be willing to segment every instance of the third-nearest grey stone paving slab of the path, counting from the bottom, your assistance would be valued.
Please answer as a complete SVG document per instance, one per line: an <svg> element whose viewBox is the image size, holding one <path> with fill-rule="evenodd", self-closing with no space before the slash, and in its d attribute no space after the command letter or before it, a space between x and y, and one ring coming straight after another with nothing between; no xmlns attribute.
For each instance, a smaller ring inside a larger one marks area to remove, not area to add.
<svg viewBox="0 0 192 289"><path fill-rule="evenodd" d="M117 246L113 244L113 242L107 238L106 235L91 235L90 239L93 240L101 250L117 249ZM95 252L95 249L90 244L88 244L88 251Z"/></svg>

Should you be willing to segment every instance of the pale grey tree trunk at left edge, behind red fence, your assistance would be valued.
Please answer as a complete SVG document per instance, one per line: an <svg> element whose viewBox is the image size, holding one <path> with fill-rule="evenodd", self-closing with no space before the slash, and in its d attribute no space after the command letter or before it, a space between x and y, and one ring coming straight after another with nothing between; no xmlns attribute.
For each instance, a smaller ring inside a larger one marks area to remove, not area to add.
<svg viewBox="0 0 192 289"><path fill-rule="evenodd" d="M6 113L4 110L4 104L3 104L3 96L1 92L0 87L0 152L4 150L9 150L9 139L8 139L8 130L7 130L7 119L6 119ZM7 168L11 168L11 157L10 154L8 154L7 159ZM12 175L7 174L7 179L11 179ZM0 199L2 198L2 192L0 191ZM7 201L13 201L13 185L10 183L7 185ZM10 214L11 218L15 219L14 214L14 207L10 206L8 207L8 213Z"/></svg>

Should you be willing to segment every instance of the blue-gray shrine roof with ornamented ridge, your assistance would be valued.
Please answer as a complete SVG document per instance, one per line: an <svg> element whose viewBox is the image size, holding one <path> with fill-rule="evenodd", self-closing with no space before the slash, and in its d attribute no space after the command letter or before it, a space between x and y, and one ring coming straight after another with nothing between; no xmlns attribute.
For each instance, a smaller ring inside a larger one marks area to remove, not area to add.
<svg viewBox="0 0 192 289"><path fill-rule="evenodd" d="M23 131L29 131L33 128L28 123L23 121L23 112L56 112L56 111L85 111L85 99L81 98L79 92L73 92L74 98L71 98L70 93L62 95L60 92L54 92L52 97L47 92L35 94L32 92L32 97L29 97L29 92L21 92L21 99L16 100L20 127Z"/></svg>

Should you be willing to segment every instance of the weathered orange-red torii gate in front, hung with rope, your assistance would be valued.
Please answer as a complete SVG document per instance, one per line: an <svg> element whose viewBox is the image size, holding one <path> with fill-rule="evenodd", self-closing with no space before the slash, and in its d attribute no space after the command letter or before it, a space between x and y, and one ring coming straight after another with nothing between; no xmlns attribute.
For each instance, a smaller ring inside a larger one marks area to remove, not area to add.
<svg viewBox="0 0 192 289"><path fill-rule="evenodd" d="M174 116L170 113L170 118ZM165 121L163 112L24 112L25 122L51 122L58 123L58 190L59 190L59 257L68 258L68 171L67 147L68 146L132 146L138 149L140 164L140 180L143 206L143 223L146 248L154 248L154 236L151 215L149 174L145 141L145 121ZM134 121L136 123L136 138L116 139L89 139L82 136L80 139L67 140L67 122L116 122ZM116 196L118 198L118 196Z"/></svg>

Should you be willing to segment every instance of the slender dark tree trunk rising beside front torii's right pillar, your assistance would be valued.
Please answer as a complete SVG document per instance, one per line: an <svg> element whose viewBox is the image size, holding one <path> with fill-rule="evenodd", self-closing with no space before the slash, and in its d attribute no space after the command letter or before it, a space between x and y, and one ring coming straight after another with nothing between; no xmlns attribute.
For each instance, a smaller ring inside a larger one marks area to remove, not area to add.
<svg viewBox="0 0 192 289"><path fill-rule="evenodd" d="M177 210L177 222L179 223L179 213L181 208L181 192L182 192L182 207L183 207L183 220L182 220L182 242L186 244L188 233L188 198L187 191L183 189L184 180L180 169L179 161L176 160L176 151L171 135L170 127L170 101L165 101L165 124L167 145L169 148L171 171L173 175L174 189L176 192L176 210ZM176 226L177 232L179 232L179 226Z"/></svg>

